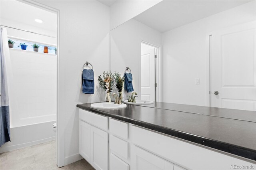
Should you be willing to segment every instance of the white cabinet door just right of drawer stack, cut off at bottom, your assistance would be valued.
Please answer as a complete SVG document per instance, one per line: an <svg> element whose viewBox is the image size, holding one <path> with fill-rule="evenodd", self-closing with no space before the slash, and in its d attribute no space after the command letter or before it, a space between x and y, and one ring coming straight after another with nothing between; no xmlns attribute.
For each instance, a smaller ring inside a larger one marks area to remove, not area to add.
<svg viewBox="0 0 256 170"><path fill-rule="evenodd" d="M134 170L173 170L173 164L146 150L132 146L132 164Z"/></svg>

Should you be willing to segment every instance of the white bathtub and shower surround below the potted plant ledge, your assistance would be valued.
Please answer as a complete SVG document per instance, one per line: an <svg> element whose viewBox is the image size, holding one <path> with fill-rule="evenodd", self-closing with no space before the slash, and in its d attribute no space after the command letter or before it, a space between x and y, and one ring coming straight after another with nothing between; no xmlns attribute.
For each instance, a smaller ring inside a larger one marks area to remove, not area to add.
<svg viewBox="0 0 256 170"><path fill-rule="evenodd" d="M9 49L13 83L10 105L12 142L1 152L38 144L56 138L57 56L20 49ZM17 104L16 104L17 103Z"/></svg>

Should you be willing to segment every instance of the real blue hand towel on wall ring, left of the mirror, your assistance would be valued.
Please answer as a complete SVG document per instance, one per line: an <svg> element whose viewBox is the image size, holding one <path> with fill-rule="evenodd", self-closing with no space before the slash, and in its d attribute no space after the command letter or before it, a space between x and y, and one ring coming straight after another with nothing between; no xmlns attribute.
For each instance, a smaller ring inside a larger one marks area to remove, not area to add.
<svg viewBox="0 0 256 170"><path fill-rule="evenodd" d="M83 70L83 88L82 92L85 94L94 94L94 72L92 69Z"/></svg>

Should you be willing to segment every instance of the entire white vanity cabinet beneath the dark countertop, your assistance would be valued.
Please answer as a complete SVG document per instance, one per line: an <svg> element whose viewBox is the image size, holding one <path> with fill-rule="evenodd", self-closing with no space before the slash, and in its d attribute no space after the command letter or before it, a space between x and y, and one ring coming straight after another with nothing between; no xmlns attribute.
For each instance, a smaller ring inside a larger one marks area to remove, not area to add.
<svg viewBox="0 0 256 170"><path fill-rule="evenodd" d="M79 109L79 153L97 170L256 167L218 150L83 109Z"/></svg>

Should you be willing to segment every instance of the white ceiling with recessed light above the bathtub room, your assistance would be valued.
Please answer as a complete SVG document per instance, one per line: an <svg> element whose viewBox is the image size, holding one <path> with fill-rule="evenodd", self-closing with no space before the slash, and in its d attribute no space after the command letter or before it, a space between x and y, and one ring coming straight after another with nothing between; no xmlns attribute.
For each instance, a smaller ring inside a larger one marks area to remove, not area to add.
<svg viewBox="0 0 256 170"><path fill-rule="evenodd" d="M56 13L42 10L41 8L36 8L16 0L0 0L0 7L1 20L5 20L6 22L4 23L12 25L12 27L16 26L19 29L24 29L24 26L32 26L33 28L38 28L38 30L50 30L51 32L57 33ZM40 19L43 23L35 22L35 19Z"/></svg>

